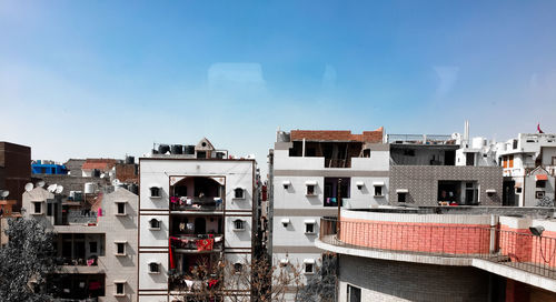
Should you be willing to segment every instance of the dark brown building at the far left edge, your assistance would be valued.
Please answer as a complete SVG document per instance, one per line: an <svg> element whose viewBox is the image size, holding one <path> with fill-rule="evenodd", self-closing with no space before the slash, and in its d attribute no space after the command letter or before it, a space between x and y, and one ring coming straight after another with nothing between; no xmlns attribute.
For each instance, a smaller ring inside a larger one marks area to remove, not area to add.
<svg viewBox="0 0 556 302"><path fill-rule="evenodd" d="M9 191L8 199L16 200L14 211L21 208L24 185L31 181L31 148L0 142L0 190Z"/></svg>

